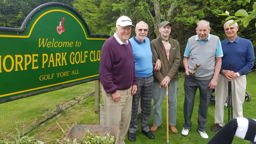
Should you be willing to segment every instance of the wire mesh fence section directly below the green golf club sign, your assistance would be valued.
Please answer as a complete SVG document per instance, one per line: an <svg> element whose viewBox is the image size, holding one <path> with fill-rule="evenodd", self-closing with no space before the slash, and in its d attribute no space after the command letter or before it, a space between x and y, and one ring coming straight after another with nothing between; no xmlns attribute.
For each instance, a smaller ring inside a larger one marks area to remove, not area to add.
<svg viewBox="0 0 256 144"><path fill-rule="evenodd" d="M94 96L94 81L0 104L0 139L26 134L80 100ZM16 124L15 124L15 120Z"/></svg>

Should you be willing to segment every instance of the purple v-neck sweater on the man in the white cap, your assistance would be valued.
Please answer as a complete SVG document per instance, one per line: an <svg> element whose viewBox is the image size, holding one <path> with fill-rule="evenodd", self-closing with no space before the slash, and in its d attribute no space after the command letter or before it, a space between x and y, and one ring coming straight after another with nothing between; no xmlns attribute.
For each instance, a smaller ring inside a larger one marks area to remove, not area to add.
<svg viewBox="0 0 256 144"><path fill-rule="evenodd" d="M105 41L101 49L99 75L107 93L138 85L130 41L127 45L120 45L114 36Z"/></svg>

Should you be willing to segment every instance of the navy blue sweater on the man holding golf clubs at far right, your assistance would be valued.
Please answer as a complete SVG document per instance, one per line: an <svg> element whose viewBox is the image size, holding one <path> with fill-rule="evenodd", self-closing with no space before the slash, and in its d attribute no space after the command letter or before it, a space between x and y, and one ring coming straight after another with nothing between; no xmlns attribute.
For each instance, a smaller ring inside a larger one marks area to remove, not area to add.
<svg viewBox="0 0 256 144"><path fill-rule="evenodd" d="M252 69L254 64L254 51L252 42L248 39L237 36L236 40L231 43L228 38L221 41L223 57L221 59L222 70L229 70L229 63L234 72L238 72L241 76L245 75Z"/></svg>

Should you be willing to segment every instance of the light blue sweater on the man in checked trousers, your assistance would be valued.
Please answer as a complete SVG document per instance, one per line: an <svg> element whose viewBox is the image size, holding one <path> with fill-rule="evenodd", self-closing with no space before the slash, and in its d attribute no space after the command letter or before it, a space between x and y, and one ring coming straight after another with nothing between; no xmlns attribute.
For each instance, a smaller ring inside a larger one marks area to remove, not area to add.
<svg viewBox="0 0 256 144"><path fill-rule="evenodd" d="M153 75L152 52L150 41L146 37L143 43L140 43L134 35L130 40L135 62L135 72L137 77L148 77Z"/></svg>

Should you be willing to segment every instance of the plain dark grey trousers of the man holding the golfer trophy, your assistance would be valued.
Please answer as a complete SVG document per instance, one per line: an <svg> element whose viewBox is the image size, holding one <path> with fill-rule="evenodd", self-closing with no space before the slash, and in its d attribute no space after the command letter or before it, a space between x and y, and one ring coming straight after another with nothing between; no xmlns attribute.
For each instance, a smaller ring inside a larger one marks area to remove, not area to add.
<svg viewBox="0 0 256 144"><path fill-rule="evenodd" d="M209 80L196 80L189 76L185 76L184 80L184 119L183 124L185 129L190 129L192 127L191 116L194 108L195 96L197 88L199 89L199 108L198 108L198 118L197 118L197 128L200 132L204 132L207 124L207 112L212 95L212 89L209 89Z"/></svg>

